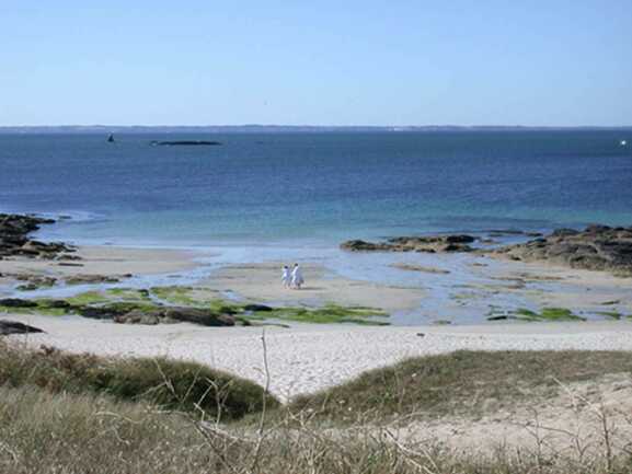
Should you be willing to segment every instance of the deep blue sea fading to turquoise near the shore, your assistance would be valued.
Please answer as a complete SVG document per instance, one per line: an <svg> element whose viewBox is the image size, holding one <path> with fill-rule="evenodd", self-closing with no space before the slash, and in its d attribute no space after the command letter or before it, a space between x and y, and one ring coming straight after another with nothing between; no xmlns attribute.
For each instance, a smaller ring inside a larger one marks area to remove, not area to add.
<svg viewBox="0 0 632 474"><path fill-rule="evenodd" d="M330 245L632 224L632 131L0 135L0 210L82 242ZM160 139L221 147L151 147Z"/></svg>

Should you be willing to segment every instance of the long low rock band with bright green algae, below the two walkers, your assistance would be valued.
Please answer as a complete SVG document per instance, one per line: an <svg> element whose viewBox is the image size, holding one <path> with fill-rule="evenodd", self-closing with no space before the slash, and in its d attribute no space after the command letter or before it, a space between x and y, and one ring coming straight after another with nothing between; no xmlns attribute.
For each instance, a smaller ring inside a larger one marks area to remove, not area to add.
<svg viewBox="0 0 632 474"><path fill-rule="evenodd" d="M234 302L219 298L212 290L189 287L153 287L149 289L110 288L87 291L66 299L0 299L0 314L76 314L118 324L173 324L180 322L203 326L284 325L283 322L354 323L386 325L388 314L374 308L268 307L253 302ZM266 322L268 321L269 322Z"/></svg>

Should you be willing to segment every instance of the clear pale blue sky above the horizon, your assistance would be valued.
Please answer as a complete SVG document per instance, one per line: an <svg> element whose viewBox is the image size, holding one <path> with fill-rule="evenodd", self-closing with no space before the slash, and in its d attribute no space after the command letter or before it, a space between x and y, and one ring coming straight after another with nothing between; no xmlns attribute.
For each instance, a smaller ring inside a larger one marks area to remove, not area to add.
<svg viewBox="0 0 632 474"><path fill-rule="evenodd" d="M0 126L632 125L631 0L0 0Z"/></svg>

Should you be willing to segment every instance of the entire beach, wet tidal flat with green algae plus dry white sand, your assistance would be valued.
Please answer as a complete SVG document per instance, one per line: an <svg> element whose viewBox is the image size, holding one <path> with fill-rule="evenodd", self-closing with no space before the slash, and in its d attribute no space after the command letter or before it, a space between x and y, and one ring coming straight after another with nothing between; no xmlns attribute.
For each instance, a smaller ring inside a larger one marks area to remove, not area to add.
<svg viewBox="0 0 632 474"><path fill-rule="evenodd" d="M306 262L304 289L289 290L276 261L205 266L189 253L78 253L81 266L1 263L3 271L9 264L11 271L60 279L24 291L5 280L5 296L36 307L3 308L2 317L44 331L12 338L72 352L195 360L262 384L267 358L271 390L283 400L409 357L460 349L632 350L632 280L601 271L469 254L361 254L345 255L347 269ZM96 271L118 281L67 282ZM207 324L211 314L234 325ZM496 315L506 317L490 324ZM403 326L382 326L389 323Z"/></svg>

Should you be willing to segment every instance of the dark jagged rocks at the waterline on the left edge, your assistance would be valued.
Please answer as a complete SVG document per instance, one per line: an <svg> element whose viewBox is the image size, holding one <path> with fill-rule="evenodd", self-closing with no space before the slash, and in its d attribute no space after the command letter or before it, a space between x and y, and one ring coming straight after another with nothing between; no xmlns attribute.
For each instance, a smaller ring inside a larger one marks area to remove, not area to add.
<svg viewBox="0 0 632 474"><path fill-rule="evenodd" d="M0 261L23 256L42 259L77 259L74 248L59 242L44 243L28 238L42 224L55 223L53 219L14 213L0 213Z"/></svg>

